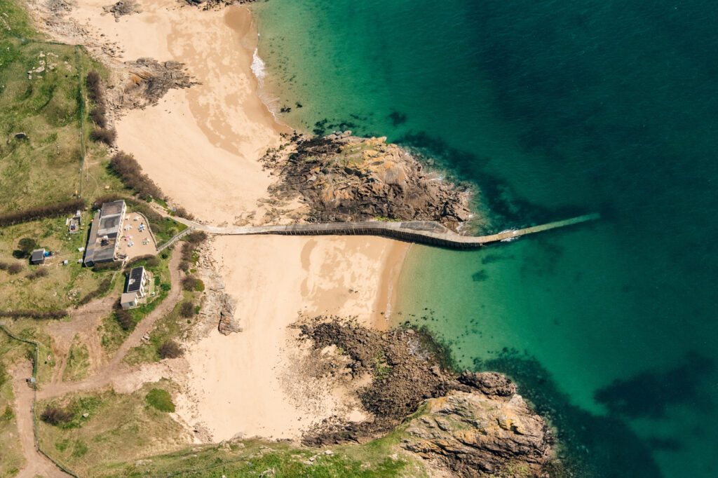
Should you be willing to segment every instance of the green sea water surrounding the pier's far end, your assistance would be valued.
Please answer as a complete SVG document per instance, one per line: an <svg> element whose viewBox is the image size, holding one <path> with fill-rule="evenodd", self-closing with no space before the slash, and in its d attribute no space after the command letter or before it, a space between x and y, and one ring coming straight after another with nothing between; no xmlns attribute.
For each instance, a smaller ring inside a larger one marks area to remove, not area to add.
<svg viewBox="0 0 718 478"><path fill-rule="evenodd" d="M515 378L581 476L718 476L717 4L256 11L286 123L423 153L477 187L485 230L605 217L476 252L415 246L393 319Z"/></svg>

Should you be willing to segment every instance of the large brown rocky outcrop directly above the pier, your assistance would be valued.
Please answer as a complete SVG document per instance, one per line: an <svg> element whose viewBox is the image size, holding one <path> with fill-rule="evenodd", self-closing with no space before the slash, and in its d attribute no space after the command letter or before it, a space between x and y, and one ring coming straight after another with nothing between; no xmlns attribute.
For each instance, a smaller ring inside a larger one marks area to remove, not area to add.
<svg viewBox="0 0 718 478"><path fill-rule="evenodd" d="M386 138L295 135L287 149L270 150L262 161L279 176L270 192L301 197L308 222L435 220L456 230L471 217L466 188L426 172Z"/></svg>

